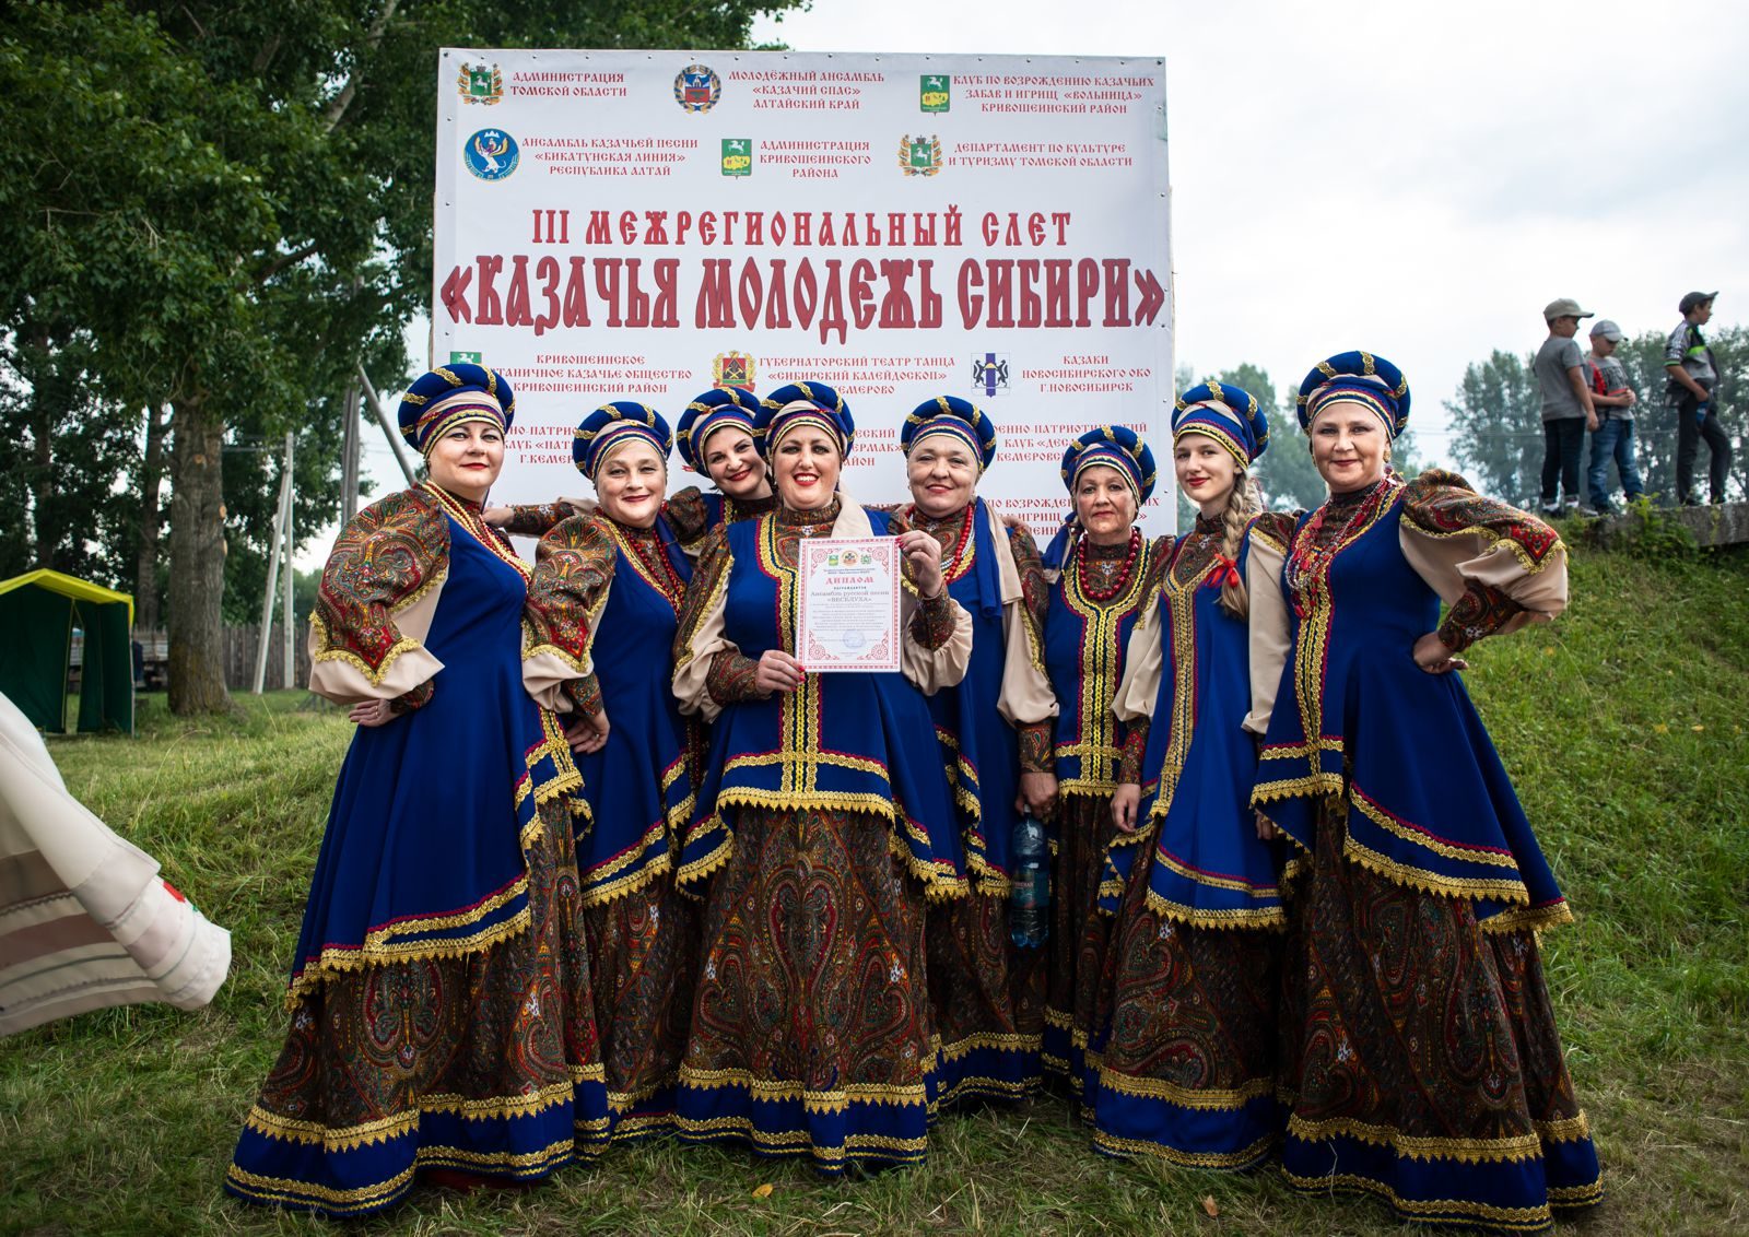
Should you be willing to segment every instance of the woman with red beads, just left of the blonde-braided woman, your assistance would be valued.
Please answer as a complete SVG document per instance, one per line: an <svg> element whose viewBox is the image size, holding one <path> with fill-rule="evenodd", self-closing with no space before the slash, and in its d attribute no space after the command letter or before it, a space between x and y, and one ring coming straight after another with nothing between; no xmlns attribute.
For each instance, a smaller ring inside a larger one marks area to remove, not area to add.
<svg viewBox="0 0 1749 1237"><path fill-rule="evenodd" d="M1130 631L1142 603L1154 596L1163 547L1135 528L1154 493L1154 453L1133 430L1088 430L1063 453L1062 477L1074 512L1044 556L1046 570L1056 571L1044 618L1044 666L1060 706L1051 755L1062 797L1046 940L1044 1068L1079 1095L1105 954L1105 919L1093 909L1114 833L1111 797L1128 732L1112 716L1111 701Z"/></svg>

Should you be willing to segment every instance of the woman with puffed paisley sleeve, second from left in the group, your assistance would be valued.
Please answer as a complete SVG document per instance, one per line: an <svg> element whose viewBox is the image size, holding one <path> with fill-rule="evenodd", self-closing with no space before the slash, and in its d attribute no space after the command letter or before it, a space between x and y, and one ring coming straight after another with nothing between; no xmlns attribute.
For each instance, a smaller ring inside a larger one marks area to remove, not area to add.
<svg viewBox="0 0 1749 1237"><path fill-rule="evenodd" d="M600 505L540 538L523 620L523 681L581 736L577 903L614 1139L673 1123L698 956L698 902L675 888L694 744L668 687L693 575L661 514L672 442L631 400L584 418L572 458Z"/></svg>

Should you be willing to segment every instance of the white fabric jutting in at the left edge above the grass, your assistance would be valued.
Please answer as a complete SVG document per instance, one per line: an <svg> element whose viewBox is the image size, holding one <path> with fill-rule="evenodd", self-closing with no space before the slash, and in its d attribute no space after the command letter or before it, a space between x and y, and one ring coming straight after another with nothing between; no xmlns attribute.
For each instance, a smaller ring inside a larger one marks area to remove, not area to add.
<svg viewBox="0 0 1749 1237"><path fill-rule="evenodd" d="M112 1005L206 1005L231 933L66 791L0 695L0 1034Z"/></svg>

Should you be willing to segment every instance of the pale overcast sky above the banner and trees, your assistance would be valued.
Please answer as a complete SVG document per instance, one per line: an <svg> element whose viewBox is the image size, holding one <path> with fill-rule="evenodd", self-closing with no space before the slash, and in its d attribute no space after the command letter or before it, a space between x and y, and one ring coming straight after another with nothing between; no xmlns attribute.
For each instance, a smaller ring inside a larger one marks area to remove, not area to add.
<svg viewBox="0 0 1749 1237"><path fill-rule="evenodd" d="M813 0L756 40L1163 56L1177 362L1389 356L1436 460L1464 365L1536 348L1555 297L1630 335L1690 288L1749 320L1746 3ZM364 465L399 487L380 433Z"/></svg>

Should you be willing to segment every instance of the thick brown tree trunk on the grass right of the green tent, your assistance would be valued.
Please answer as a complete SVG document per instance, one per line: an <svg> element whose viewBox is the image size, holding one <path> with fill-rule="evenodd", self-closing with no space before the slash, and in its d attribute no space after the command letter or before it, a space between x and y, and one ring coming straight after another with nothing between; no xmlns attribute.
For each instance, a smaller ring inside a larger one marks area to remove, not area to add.
<svg viewBox="0 0 1749 1237"><path fill-rule="evenodd" d="M224 425L199 395L170 405L170 711L226 713Z"/></svg>

